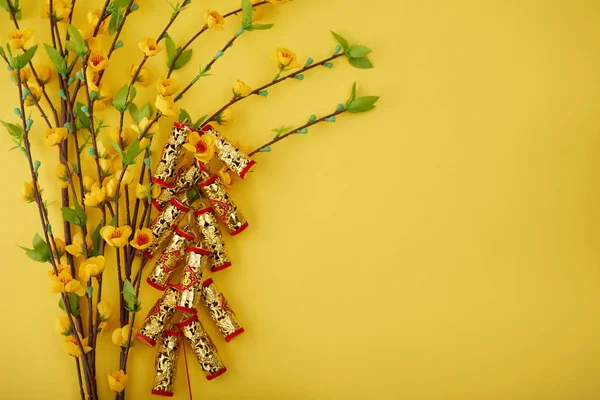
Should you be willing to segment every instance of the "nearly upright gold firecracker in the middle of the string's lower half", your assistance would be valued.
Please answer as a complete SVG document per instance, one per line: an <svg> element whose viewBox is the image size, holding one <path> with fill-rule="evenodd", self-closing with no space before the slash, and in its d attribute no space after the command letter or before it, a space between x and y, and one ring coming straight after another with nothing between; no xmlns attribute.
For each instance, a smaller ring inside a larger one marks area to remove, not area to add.
<svg viewBox="0 0 600 400"><path fill-rule="evenodd" d="M179 302L176 310L186 313L196 313L196 305L202 296L202 276L208 266L210 252L200 247L188 247L185 257L183 276L178 285Z"/></svg>

